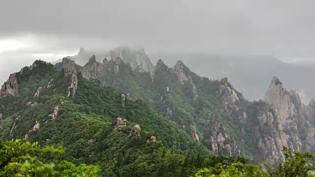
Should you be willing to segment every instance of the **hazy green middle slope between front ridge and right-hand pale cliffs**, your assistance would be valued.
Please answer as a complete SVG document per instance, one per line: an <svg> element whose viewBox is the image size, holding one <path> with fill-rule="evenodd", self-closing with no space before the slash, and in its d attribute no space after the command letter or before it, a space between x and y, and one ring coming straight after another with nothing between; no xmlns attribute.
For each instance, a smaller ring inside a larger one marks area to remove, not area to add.
<svg viewBox="0 0 315 177"><path fill-rule="evenodd" d="M56 67L68 63L66 60ZM71 67L78 68L75 64ZM219 82L199 77L182 61L168 68L162 60L158 60L153 72L141 73L120 58L100 63L93 56L85 66L78 69L87 73L86 78L98 79L104 86L120 89L129 99L141 99L149 103L158 113L168 117L215 154L237 157L242 152L251 159L255 156L253 138L250 138L250 134L239 134L239 121L234 118L246 119L246 113L240 111L231 115L225 111L222 96L225 101L229 101L229 96L228 91L224 96L223 89L226 88L222 88L222 85L224 82L226 85L227 80ZM234 105L234 102L231 104ZM241 143L244 137L251 140Z"/></svg>

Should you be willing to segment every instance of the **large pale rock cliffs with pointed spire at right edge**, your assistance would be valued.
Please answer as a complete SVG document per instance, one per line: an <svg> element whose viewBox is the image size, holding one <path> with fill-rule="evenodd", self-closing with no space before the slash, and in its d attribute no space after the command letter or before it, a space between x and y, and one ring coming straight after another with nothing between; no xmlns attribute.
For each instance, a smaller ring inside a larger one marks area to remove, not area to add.
<svg viewBox="0 0 315 177"><path fill-rule="evenodd" d="M253 103L259 112L254 135L263 158L279 164L285 160L283 146L314 152L315 129L310 123L314 104L306 107L298 93L284 89L277 77L272 78L264 99Z"/></svg>

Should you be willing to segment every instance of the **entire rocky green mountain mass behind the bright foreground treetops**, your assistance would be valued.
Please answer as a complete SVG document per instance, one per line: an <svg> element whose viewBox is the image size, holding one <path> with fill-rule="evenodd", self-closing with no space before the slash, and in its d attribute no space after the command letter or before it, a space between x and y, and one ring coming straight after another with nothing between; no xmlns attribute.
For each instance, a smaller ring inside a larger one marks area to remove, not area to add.
<svg viewBox="0 0 315 177"><path fill-rule="evenodd" d="M103 176L189 176L226 158L275 167L289 159L284 146L313 153L314 105L277 77L250 102L181 60L159 59L152 72L120 57L36 60L0 89L0 137L63 146L64 160Z"/></svg>

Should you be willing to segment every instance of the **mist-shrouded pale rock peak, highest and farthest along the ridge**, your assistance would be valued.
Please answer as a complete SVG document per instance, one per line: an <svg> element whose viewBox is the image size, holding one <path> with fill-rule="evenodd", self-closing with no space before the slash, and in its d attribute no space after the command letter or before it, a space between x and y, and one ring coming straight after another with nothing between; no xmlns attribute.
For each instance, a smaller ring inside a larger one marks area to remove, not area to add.
<svg viewBox="0 0 315 177"><path fill-rule="evenodd" d="M128 63L131 68L137 69L140 72L152 72L154 70L154 65L144 52L143 48L136 49L128 46L117 47L108 52L108 54L105 55L105 58L108 61L120 58L125 63Z"/></svg>

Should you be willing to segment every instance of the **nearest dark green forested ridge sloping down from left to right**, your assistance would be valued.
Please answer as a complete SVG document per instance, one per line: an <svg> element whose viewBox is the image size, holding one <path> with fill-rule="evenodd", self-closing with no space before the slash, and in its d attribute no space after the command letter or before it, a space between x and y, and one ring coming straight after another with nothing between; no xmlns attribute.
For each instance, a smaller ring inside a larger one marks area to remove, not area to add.
<svg viewBox="0 0 315 177"><path fill-rule="evenodd" d="M115 64L108 63L109 69ZM124 176L131 173L129 169L135 176L172 176L164 174L171 171L161 169L166 168L161 158L182 164L185 156L177 154L211 155L143 101L85 79L84 68L69 59L63 59L61 65L57 70L58 65L37 60L10 76L0 92L1 139L61 145L67 160L101 164L107 176ZM143 164L153 165L153 159L155 168L140 170ZM175 169L185 170L182 165Z"/></svg>

